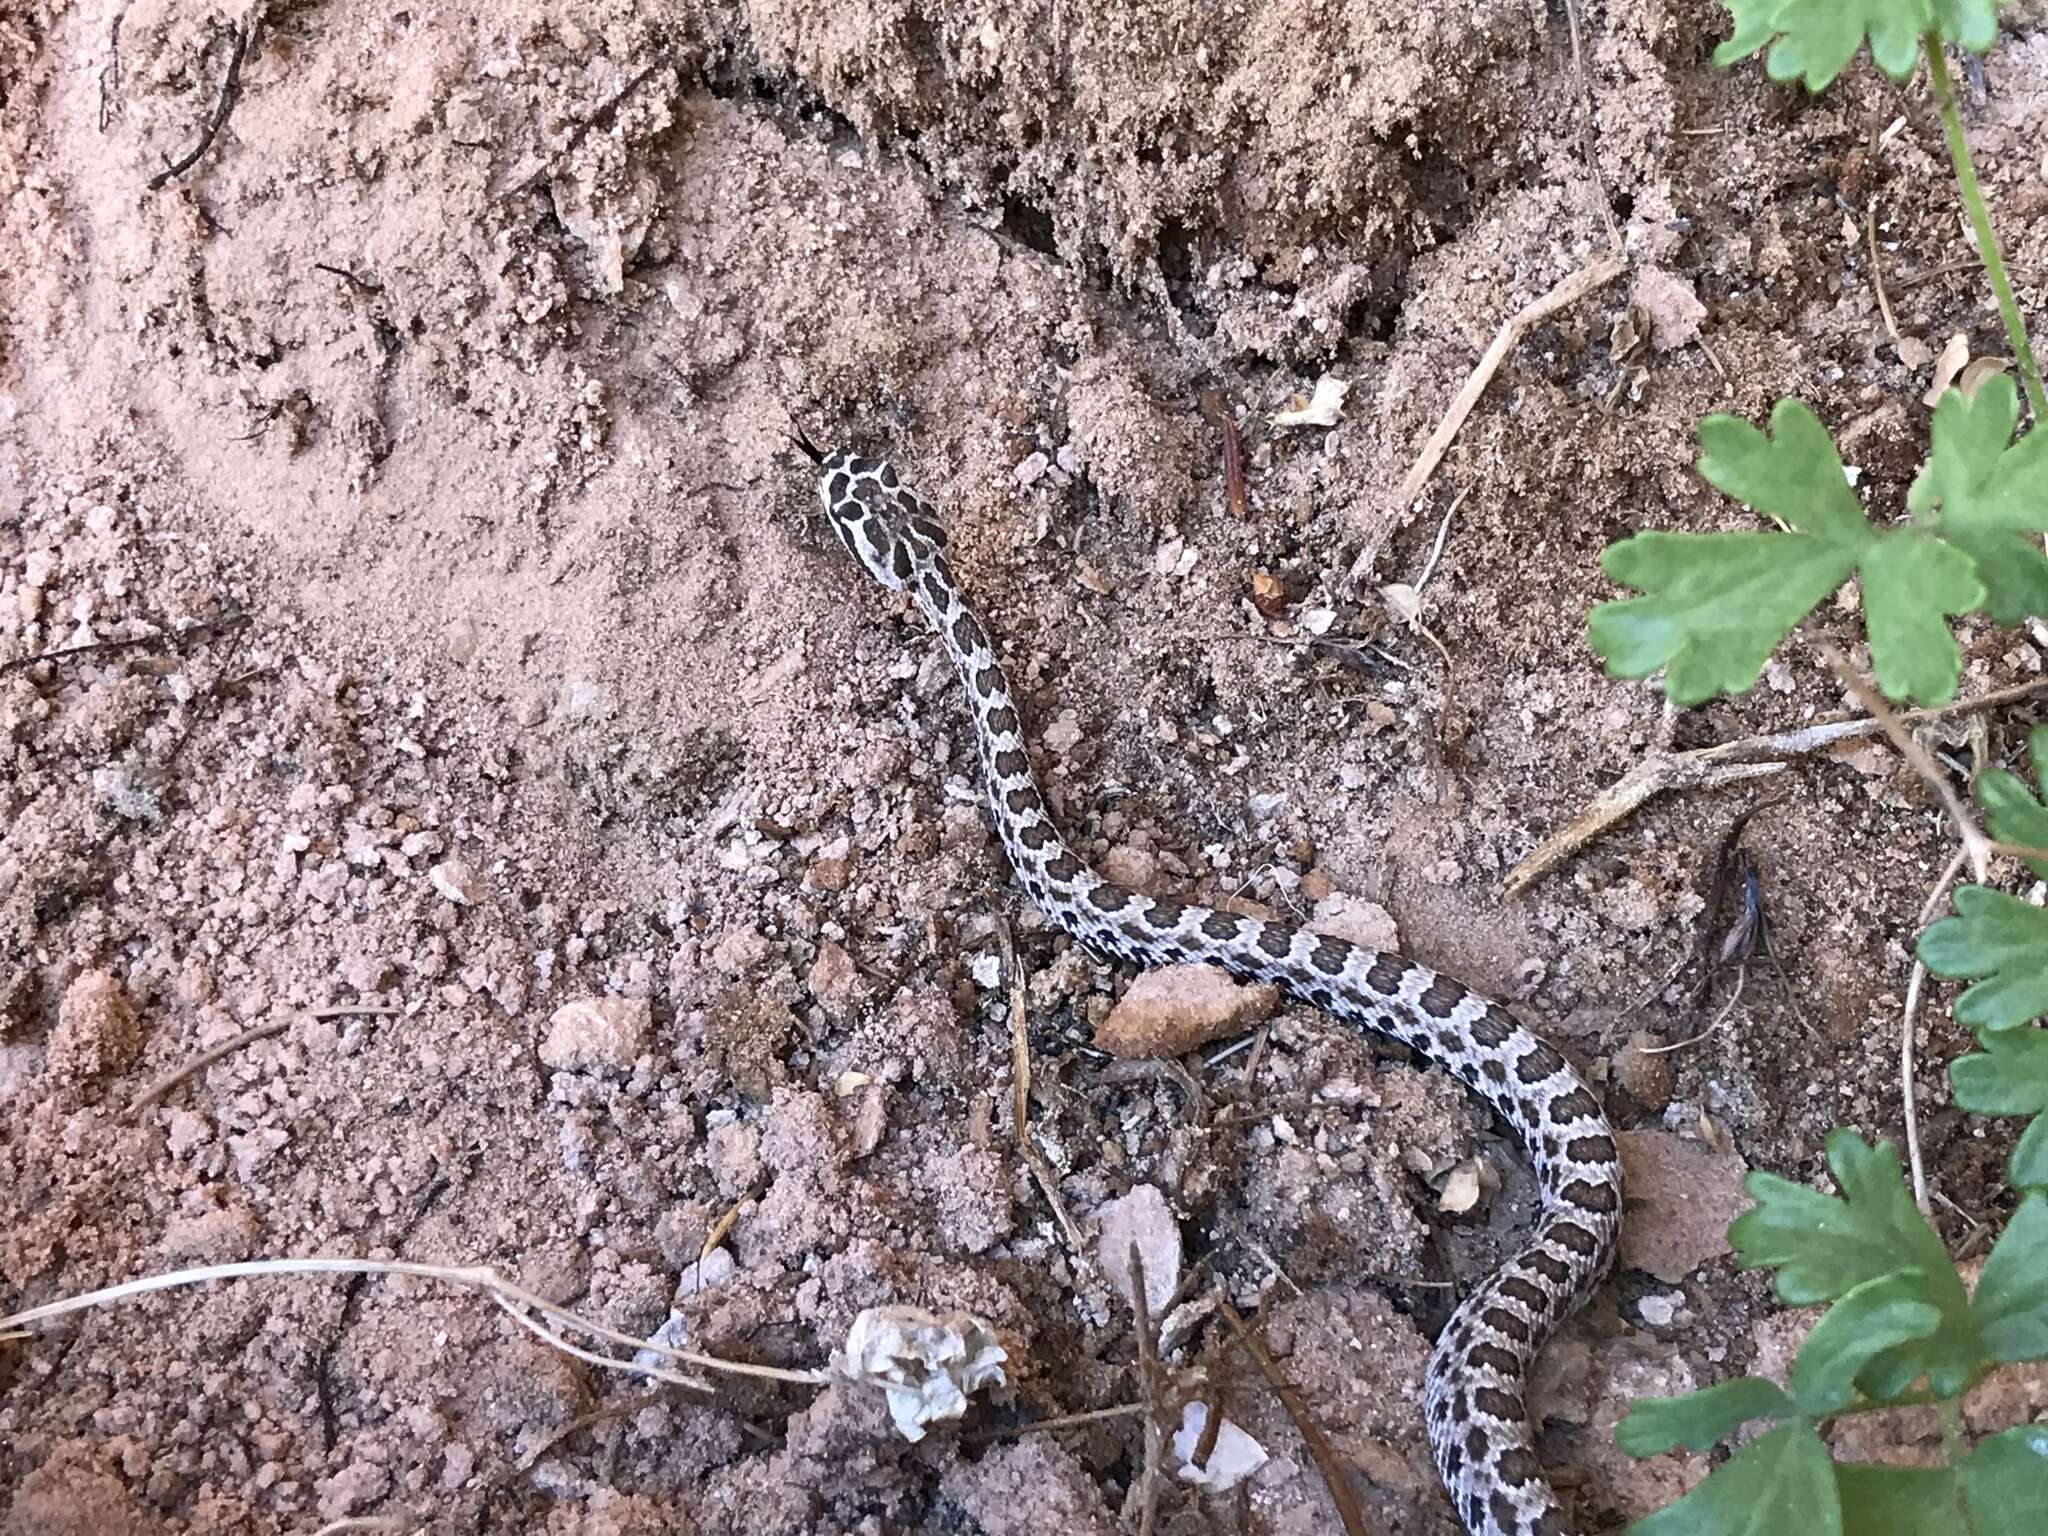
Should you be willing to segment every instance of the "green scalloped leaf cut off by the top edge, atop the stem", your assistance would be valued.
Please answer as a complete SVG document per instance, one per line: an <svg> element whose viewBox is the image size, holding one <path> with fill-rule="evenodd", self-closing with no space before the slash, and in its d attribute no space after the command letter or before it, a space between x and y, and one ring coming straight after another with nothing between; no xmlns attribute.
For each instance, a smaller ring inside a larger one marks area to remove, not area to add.
<svg viewBox="0 0 2048 1536"><path fill-rule="evenodd" d="M1772 80L1804 80L1823 90L1870 37L1870 57L1892 80L1913 74L1919 39L1939 31L1982 53L1997 39L1999 0L1722 0L1735 35L1714 49L1729 66L1769 47Z"/></svg>

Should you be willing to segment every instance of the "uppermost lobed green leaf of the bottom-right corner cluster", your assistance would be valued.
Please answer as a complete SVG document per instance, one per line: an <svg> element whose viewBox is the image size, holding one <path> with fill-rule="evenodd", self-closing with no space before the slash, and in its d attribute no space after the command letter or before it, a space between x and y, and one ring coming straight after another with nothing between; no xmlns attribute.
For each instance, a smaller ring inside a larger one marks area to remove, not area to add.
<svg viewBox="0 0 2048 1536"><path fill-rule="evenodd" d="M1939 1325L1911 1341L1884 1339L1855 1370L1855 1384L1880 1401L1898 1397L1923 1374L1935 1393L1962 1391L1976 1378L1985 1346L1948 1249L1913 1206L1898 1155L1888 1143L1870 1147L1853 1130L1835 1130L1827 1139L1827 1165L1841 1186L1839 1198L1776 1174L1749 1176L1745 1188L1757 1204L1729 1227L1737 1264L1776 1266L1774 1288L1794 1307L1911 1272L1917 1298L1939 1313Z"/></svg>

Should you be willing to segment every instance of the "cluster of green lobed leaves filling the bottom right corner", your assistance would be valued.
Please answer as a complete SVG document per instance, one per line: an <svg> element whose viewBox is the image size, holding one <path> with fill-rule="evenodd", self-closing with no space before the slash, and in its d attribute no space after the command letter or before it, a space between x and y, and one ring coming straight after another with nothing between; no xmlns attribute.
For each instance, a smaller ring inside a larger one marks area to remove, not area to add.
<svg viewBox="0 0 2048 1536"><path fill-rule="evenodd" d="M1616 1430L1630 1456L1710 1450L1763 1421L1677 1503L1632 1536L2040 1536L2048 1425L1966 1446L1960 1399L2001 1364L2048 1360L2048 1194L2030 1194L1972 1294L1913 1206L1898 1157L1853 1130L1827 1141L1841 1196L1751 1174L1755 1208L1729 1227L1745 1270L1776 1270L1794 1307L1831 1303L1790 1386L1739 1376L1686 1397L1638 1399ZM1821 1427L1851 1413L1933 1403L1944 1466L1837 1464Z"/></svg>

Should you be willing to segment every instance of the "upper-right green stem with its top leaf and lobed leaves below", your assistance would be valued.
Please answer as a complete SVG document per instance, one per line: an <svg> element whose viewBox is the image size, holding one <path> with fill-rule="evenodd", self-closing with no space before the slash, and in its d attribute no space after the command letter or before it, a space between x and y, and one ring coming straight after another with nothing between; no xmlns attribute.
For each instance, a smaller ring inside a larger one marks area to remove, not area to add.
<svg viewBox="0 0 2048 1536"><path fill-rule="evenodd" d="M1735 416L1700 424L1700 475L1778 518L1782 532L1638 532L1610 545L1602 567L1645 596L1602 602L1591 645L1618 678L1665 668L1665 694L1698 705L1751 688L1772 649L1855 575L1878 686L1892 698L1948 702L1960 655L1948 616L1982 608L1995 623L2048 616L2048 393L1991 229L1944 41L1991 47L1997 0L1724 0L1735 37L1714 53L1735 63L1769 49L1774 80L1827 86L1870 39L1878 66L1905 80L1927 59L1956 182L2013 348L2034 430L2019 426L2011 379L1974 397L1950 389L1933 449L1907 496L1911 522L1878 526L1849 487L1841 457L1806 406L1780 399L1765 436ZM2034 535L2030 539L2030 535Z"/></svg>

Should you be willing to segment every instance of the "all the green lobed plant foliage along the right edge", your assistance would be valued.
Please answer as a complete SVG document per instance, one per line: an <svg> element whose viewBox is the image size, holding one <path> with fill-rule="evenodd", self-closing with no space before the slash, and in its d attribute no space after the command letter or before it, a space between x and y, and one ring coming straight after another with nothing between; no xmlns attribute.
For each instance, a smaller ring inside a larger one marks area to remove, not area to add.
<svg viewBox="0 0 2048 1536"><path fill-rule="evenodd" d="M2028 342L1982 188L1970 164L1944 45L1982 53L1997 0L1724 0L1735 35L1720 66L1765 53L1774 80L1823 90L1868 41L1880 70L1907 80L1925 59L1964 209L1999 301L2019 383L1950 389L1907 496L1911 520L1874 522L1827 428L1782 399L1769 432L1733 416L1700 424L1700 475L1778 520L1757 532L1638 532L1610 545L1604 569L1640 596L1587 618L1608 672L1665 672L1665 694L1698 705L1751 688L1769 653L1851 575L1870 659L1892 698L1948 702L1962 657L1952 614L2015 625L2048 616L2048 393ZM2034 426L2019 432L2021 391ZM2048 793L2048 727L2030 739ZM2048 881L2048 803L2009 772L1987 772L1978 803L1997 846ZM1729 1229L1745 1270L1776 1272L1778 1296L1827 1305L1788 1386L1743 1376L1630 1407L1616 1440L1632 1456L1710 1450L1759 1425L1692 1493L1632 1536L2040 1536L2048 1530L2048 1425L1968 1444L1962 1397L1993 1370L2048 1360L2048 911L1982 885L1919 940L1921 963L1970 979L1956 1001L1980 1051L1950 1069L1956 1104L2030 1114L2009 1163L2019 1206L1974 1292L1913 1204L1898 1159L1851 1130L1827 1143L1839 1194L1751 1174L1755 1206ZM1837 1464L1833 1419L1905 1405L1942 1417L1942 1466Z"/></svg>

